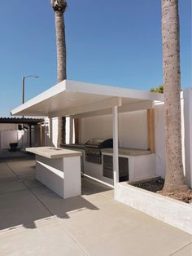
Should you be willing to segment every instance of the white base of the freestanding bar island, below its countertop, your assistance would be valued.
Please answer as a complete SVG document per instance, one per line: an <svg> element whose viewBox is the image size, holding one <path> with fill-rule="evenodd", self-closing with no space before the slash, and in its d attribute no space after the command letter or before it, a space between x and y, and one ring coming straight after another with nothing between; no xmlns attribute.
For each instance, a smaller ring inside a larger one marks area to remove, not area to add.
<svg viewBox="0 0 192 256"><path fill-rule="evenodd" d="M36 156L36 179L59 196L81 195L81 157L48 159Z"/></svg>

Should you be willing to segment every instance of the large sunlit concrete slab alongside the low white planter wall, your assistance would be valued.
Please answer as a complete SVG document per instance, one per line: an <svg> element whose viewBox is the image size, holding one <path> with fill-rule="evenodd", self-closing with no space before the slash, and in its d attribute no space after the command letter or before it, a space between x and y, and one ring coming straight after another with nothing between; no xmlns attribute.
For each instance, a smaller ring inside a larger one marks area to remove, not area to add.
<svg viewBox="0 0 192 256"><path fill-rule="evenodd" d="M85 210L59 222L89 255L168 256L192 236L119 202L98 211Z"/></svg>

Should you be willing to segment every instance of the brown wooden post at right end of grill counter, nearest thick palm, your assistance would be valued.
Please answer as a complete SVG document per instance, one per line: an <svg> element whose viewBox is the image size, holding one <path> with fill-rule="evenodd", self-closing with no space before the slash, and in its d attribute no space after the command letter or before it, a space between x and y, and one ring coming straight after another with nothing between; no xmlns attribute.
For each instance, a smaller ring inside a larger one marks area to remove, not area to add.
<svg viewBox="0 0 192 256"><path fill-rule="evenodd" d="M148 149L155 153L155 109L147 109Z"/></svg>

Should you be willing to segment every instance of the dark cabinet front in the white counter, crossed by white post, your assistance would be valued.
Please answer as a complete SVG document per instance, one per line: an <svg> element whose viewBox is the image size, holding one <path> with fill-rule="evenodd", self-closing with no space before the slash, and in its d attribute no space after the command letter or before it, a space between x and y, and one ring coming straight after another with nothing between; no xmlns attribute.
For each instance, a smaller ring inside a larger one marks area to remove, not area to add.
<svg viewBox="0 0 192 256"><path fill-rule="evenodd" d="M103 155L103 176L113 179L113 157ZM129 158L119 157L119 181L129 180Z"/></svg>

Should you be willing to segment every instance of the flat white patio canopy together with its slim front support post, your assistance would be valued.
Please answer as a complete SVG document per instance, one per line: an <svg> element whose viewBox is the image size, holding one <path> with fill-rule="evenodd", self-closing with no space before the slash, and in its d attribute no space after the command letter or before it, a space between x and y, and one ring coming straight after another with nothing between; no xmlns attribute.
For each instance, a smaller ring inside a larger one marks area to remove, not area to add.
<svg viewBox="0 0 192 256"><path fill-rule="evenodd" d="M119 182L118 113L153 108L163 95L65 80L11 111L11 115L85 117L112 113L114 186Z"/></svg>

